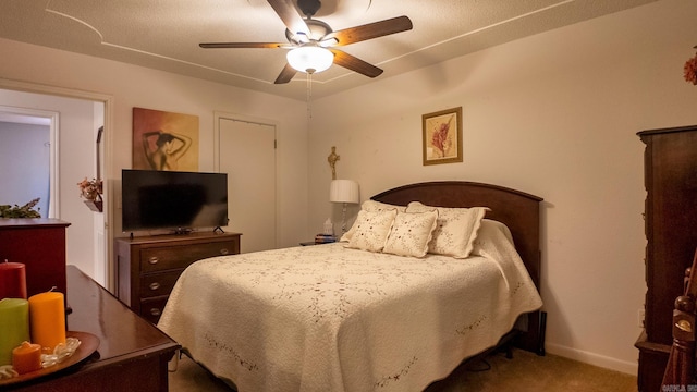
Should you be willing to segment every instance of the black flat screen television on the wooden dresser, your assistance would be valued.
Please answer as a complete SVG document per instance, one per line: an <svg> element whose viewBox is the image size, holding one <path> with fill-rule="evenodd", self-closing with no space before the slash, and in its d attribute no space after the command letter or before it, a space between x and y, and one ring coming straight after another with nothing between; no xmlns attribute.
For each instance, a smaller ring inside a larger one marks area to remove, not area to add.
<svg viewBox="0 0 697 392"><path fill-rule="evenodd" d="M123 232L228 225L228 174L123 169Z"/></svg>

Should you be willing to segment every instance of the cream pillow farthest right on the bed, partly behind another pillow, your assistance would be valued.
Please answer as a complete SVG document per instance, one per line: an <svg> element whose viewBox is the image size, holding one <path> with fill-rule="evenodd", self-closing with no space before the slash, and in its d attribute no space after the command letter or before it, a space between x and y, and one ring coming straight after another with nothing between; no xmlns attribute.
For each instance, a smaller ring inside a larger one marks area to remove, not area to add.
<svg viewBox="0 0 697 392"><path fill-rule="evenodd" d="M412 201L407 212L438 210L438 222L433 230L433 238L428 244L428 252L437 255L466 258L472 253L477 231L487 211L487 207L445 208L425 206Z"/></svg>

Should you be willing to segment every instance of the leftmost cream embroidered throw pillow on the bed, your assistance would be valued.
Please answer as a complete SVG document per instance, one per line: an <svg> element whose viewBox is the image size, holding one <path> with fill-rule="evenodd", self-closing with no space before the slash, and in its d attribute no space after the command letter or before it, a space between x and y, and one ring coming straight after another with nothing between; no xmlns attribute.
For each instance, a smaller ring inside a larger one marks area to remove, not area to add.
<svg viewBox="0 0 697 392"><path fill-rule="evenodd" d="M393 209L384 211L360 210L356 223L354 223L355 231L348 241L348 247L382 252L395 216L396 210Z"/></svg>

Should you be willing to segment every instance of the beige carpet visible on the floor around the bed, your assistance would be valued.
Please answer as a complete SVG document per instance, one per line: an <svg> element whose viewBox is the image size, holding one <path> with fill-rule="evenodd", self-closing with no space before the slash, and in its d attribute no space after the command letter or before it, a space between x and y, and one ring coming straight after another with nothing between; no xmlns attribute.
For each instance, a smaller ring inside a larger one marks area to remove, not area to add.
<svg viewBox="0 0 697 392"><path fill-rule="evenodd" d="M170 372L170 391L233 391L223 381L183 356ZM515 350L513 359L492 354L485 360L461 365L426 392L636 392L636 377L555 355L537 356Z"/></svg>

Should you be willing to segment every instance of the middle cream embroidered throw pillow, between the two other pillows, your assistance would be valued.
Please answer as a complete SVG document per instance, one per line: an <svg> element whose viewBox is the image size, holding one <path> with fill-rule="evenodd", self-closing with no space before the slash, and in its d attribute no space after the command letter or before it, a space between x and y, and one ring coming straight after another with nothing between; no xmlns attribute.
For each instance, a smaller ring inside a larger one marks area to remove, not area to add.
<svg viewBox="0 0 697 392"><path fill-rule="evenodd" d="M414 213L398 212L382 252L398 256L426 256L428 242L431 241L437 219L437 210Z"/></svg>

